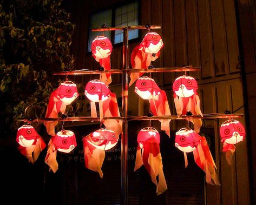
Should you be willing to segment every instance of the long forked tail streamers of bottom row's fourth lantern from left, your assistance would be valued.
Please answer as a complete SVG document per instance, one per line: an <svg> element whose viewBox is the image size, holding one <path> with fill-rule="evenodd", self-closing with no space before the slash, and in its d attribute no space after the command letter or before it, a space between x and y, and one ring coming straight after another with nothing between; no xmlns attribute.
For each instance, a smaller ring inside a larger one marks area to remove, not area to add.
<svg viewBox="0 0 256 205"><path fill-rule="evenodd" d="M163 174L163 164L160 148L159 144L157 144L154 139L146 141L142 151L138 145L134 170L136 171L139 169L142 164L144 164L145 168L151 176L152 182L156 185L157 195L160 195L166 191L167 184L165 175Z"/></svg>

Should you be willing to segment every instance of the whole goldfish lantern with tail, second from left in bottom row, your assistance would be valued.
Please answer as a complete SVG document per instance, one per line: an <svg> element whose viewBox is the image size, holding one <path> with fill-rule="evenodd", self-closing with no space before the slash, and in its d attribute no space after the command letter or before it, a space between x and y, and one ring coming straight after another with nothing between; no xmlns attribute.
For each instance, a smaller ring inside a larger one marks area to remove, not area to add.
<svg viewBox="0 0 256 205"><path fill-rule="evenodd" d="M54 173L58 170L57 150L62 153L70 153L76 145L76 136L73 131L63 129L58 131L55 136L52 136L48 143L47 155L44 159L50 170Z"/></svg>

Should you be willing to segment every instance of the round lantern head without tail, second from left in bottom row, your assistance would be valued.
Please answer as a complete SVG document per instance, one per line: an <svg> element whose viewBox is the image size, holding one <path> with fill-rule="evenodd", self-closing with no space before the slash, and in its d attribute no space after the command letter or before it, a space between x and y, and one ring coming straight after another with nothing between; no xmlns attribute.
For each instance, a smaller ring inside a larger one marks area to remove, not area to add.
<svg viewBox="0 0 256 205"><path fill-rule="evenodd" d="M76 147L76 136L73 131L61 130L54 137L54 144L58 151L70 153Z"/></svg>

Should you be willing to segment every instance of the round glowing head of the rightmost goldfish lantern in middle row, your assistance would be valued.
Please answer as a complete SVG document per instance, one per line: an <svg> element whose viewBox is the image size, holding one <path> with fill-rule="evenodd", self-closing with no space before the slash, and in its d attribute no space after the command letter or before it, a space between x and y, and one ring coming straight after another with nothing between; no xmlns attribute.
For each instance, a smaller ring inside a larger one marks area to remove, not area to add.
<svg viewBox="0 0 256 205"><path fill-rule="evenodd" d="M180 76L173 83L173 91L179 97L191 97L196 90L198 90L198 84L191 76Z"/></svg>

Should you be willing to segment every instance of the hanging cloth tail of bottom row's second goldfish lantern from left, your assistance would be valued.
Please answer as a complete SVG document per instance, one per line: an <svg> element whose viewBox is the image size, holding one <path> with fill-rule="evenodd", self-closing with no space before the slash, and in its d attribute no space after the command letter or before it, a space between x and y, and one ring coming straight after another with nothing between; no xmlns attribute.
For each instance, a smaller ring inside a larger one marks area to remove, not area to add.
<svg viewBox="0 0 256 205"><path fill-rule="evenodd" d="M49 171L52 170L53 173L56 173L58 170L58 162L56 160L57 157L57 149L55 148L55 144L53 143L53 138L51 137L48 143L47 155L44 158L44 162L48 164Z"/></svg>

